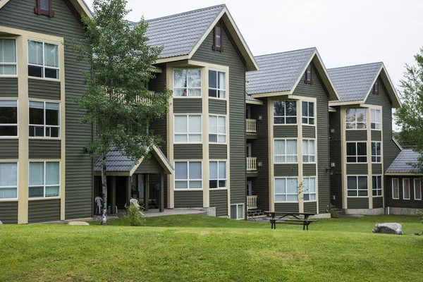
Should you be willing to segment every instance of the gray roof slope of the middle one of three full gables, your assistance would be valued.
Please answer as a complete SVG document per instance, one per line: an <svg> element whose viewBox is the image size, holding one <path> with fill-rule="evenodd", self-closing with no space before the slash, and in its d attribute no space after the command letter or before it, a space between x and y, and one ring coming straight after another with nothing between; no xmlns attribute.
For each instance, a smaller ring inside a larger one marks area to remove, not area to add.
<svg viewBox="0 0 423 282"><path fill-rule="evenodd" d="M290 91L316 48L256 56L259 71L247 72L248 94Z"/></svg>

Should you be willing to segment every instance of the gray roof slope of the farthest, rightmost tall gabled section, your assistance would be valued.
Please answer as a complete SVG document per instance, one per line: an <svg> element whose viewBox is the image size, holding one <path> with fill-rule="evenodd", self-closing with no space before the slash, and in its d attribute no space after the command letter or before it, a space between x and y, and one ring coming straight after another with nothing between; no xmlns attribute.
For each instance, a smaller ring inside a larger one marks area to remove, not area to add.
<svg viewBox="0 0 423 282"><path fill-rule="evenodd" d="M333 102L363 101L383 63L329 68L329 77L341 98Z"/></svg>

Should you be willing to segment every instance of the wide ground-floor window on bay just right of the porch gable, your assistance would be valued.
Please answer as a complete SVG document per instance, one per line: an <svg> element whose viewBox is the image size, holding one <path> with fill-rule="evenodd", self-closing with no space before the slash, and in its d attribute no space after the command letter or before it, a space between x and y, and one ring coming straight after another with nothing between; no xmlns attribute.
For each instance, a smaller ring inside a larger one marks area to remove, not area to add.
<svg viewBox="0 0 423 282"><path fill-rule="evenodd" d="M175 162L175 189L202 189L201 161Z"/></svg>

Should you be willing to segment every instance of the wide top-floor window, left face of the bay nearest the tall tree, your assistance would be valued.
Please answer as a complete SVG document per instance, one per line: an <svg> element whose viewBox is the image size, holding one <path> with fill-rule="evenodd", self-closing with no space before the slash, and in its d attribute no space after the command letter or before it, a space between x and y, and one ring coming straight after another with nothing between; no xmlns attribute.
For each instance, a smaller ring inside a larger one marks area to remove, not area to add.
<svg viewBox="0 0 423 282"><path fill-rule="evenodd" d="M173 70L173 97L201 97L201 70Z"/></svg>

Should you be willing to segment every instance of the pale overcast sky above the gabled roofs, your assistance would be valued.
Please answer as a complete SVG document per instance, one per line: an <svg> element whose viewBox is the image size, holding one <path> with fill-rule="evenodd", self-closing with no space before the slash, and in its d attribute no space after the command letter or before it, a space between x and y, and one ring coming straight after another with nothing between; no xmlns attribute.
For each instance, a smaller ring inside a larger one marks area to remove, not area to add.
<svg viewBox="0 0 423 282"><path fill-rule="evenodd" d="M326 68L384 61L396 87L423 46L422 0L129 0L127 19L222 3L254 56L317 47Z"/></svg>

